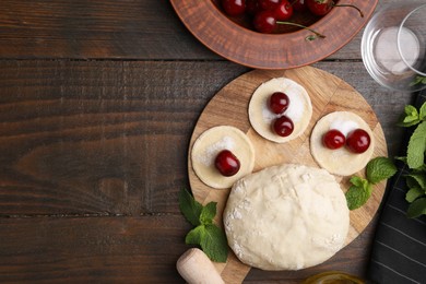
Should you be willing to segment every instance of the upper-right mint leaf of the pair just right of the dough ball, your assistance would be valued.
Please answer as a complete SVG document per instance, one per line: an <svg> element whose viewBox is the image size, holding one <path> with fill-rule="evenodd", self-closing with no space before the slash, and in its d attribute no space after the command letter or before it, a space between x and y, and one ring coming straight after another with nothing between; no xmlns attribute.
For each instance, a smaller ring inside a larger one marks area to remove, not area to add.
<svg viewBox="0 0 426 284"><path fill-rule="evenodd" d="M388 157L375 157L367 164L367 180L372 185L392 177L397 173L397 166Z"/></svg>

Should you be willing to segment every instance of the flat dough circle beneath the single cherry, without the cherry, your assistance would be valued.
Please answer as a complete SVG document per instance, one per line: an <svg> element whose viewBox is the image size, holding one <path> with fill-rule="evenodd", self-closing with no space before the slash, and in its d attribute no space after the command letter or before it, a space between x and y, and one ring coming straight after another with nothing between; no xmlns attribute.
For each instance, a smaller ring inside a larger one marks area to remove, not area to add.
<svg viewBox="0 0 426 284"><path fill-rule="evenodd" d="M240 162L240 168L234 176L222 176L214 166L215 157L223 150L229 150ZM217 189L230 188L236 180L253 170L255 147L241 130L230 126L213 127L193 143L191 163L193 171L205 185Z"/></svg>

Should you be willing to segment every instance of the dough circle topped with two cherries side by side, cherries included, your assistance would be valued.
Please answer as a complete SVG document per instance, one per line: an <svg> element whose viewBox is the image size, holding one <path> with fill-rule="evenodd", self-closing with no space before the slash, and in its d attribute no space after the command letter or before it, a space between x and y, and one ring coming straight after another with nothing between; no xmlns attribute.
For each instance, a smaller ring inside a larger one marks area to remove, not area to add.
<svg viewBox="0 0 426 284"><path fill-rule="evenodd" d="M350 176L371 159L374 133L367 122L351 111L334 111L322 117L310 135L310 152L331 174Z"/></svg>

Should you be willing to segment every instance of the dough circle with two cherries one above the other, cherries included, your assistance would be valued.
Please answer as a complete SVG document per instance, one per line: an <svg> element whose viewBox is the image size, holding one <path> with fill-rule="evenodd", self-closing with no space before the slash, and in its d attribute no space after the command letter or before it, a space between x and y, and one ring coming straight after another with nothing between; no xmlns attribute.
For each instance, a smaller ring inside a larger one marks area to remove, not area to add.
<svg viewBox="0 0 426 284"><path fill-rule="evenodd" d="M248 113L256 132L270 141L284 143L306 130L312 105L301 85L287 78L274 78L255 91Z"/></svg>

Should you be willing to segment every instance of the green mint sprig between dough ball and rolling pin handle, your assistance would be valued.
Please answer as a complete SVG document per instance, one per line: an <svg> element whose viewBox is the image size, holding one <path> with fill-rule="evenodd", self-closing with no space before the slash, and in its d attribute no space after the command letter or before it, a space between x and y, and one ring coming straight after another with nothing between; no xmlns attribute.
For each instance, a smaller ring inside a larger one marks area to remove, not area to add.
<svg viewBox="0 0 426 284"><path fill-rule="evenodd" d="M187 236L187 245L200 246L204 253L216 262L226 262L228 245L225 233L213 223L216 202L203 206L185 188L179 192L179 209L189 223L194 226Z"/></svg>

